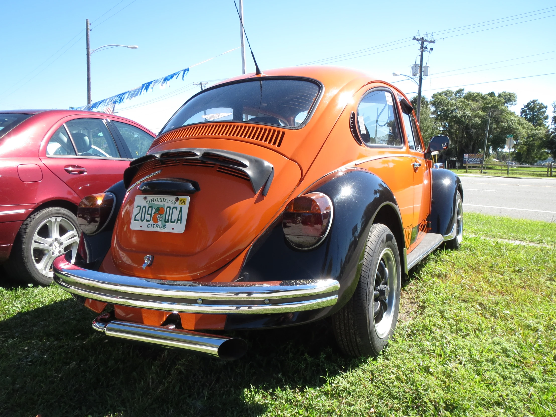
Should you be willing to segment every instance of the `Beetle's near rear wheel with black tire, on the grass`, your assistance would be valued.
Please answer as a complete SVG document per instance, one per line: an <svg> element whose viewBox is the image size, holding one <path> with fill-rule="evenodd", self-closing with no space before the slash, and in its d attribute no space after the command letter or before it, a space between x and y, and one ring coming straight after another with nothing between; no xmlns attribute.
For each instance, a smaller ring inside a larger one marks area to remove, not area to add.
<svg viewBox="0 0 556 417"><path fill-rule="evenodd" d="M396 238L385 225L374 224L369 230L355 292L332 315L336 341L346 355L377 356L388 345L398 322L400 290Z"/></svg>

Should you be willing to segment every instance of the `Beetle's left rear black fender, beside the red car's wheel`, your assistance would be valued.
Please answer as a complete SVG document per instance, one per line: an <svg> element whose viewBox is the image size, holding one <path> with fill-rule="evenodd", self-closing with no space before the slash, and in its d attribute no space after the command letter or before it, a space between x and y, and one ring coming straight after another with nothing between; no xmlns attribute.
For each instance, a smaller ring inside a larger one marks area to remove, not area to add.
<svg viewBox="0 0 556 417"><path fill-rule="evenodd" d="M112 243L112 232L114 224L120 213L123 198L126 196L126 187L123 181L116 182L113 186L108 188L105 192L111 192L116 196L114 210L112 216L108 219L108 224L96 235L81 234L79 246L77 248L77 256L75 264L86 269L98 270L105 259L106 254L110 250Z"/></svg>

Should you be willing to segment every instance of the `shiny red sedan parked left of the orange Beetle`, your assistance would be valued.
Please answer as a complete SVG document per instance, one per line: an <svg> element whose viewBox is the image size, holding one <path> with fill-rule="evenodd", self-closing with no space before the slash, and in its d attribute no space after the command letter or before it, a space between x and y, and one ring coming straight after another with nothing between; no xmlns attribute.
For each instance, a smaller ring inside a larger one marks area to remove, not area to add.
<svg viewBox="0 0 556 417"><path fill-rule="evenodd" d="M0 263L19 280L52 282L52 261L77 253L77 204L122 178L155 134L77 110L0 112Z"/></svg>

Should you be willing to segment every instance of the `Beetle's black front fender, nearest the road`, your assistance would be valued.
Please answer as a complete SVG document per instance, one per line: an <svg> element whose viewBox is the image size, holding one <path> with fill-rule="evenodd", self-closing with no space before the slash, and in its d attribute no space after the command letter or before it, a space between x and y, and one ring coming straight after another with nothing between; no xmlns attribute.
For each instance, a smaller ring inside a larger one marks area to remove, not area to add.
<svg viewBox="0 0 556 417"><path fill-rule="evenodd" d="M454 227L456 215L456 195L458 191L463 200L463 186L459 177L450 170L434 168L433 191L430 209L431 233L449 235Z"/></svg>

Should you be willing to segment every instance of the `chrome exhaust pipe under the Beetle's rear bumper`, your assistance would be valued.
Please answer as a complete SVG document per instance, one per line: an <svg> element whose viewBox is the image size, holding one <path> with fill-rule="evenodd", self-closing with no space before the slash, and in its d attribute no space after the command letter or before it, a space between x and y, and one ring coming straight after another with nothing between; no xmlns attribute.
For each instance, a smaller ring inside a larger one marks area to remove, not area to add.
<svg viewBox="0 0 556 417"><path fill-rule="evenodd" d="M93 329L111 337L156 344L172 349L190 350L203 355L216 356L223 360L241 358L247 351L247 342L239 337L210 335L129 321L105 321L107 318L105 314L98 316L93 320Z"/></svg>

